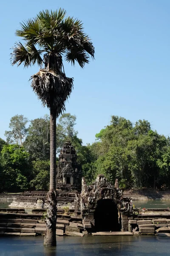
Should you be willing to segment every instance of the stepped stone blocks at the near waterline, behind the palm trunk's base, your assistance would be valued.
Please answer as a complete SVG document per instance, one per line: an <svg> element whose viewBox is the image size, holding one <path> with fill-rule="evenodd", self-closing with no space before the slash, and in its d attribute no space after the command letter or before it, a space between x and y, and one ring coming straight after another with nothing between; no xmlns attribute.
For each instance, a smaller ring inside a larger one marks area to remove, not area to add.
<svg viewBox="0 0 170 256"><path fill-rule="evenodd" d="M80 233L84 230L82 219L71 215L57 214L56 235L71 235L71 232ZM0 236L38 236L44 235L46 224L43 214L40 213L11 213L0 212ZM75 235L75 234L74 234Z"/></svg>

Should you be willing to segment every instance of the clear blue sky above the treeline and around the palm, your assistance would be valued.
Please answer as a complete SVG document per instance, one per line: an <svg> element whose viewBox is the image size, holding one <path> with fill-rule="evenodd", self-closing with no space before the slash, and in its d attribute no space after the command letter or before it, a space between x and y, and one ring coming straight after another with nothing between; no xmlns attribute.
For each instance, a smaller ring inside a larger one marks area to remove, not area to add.
<svg viewBox="0 0 170 256"><path fill-rule="evenodd" d="M0 15L0 137L11 116L31 120L48 113L28 81L38 68L12 67L9 58L19 23L58 7L83 21L95 46L95 61L85 69L65 66L74 77L66 112L77 116L83 143L92 143L111 115L133 123L147 119L160 134L170 134L169 0L8 0Z"/></svg>

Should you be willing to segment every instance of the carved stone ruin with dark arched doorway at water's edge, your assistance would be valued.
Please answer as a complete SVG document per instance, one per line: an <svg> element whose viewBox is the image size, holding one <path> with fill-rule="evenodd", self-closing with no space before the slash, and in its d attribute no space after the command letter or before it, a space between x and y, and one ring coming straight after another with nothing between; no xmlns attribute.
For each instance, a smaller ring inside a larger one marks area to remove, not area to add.
<svg viewBox="0 0 170 256"><path fill-rule="evenodd" d="M114 187L104 175L88 186L82 178L82 192L76 194L75 212L81 212L83 224L95 231L127 231L133 213L130 198L123 197L118 180Z"/></svg>

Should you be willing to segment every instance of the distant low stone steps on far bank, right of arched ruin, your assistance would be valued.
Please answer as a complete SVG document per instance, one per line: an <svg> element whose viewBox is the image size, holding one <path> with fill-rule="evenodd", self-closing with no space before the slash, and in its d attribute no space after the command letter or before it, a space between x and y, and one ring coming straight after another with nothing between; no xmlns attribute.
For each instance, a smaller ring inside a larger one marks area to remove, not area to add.
<svg viewBox="0 0 170 256"><path fill-rule="evenodd" d="M170 201L170 191L156 191L153 190L125 190L123 192L124 197L130 197L136 201L149 201L149 200L162 200Z"/></svg>

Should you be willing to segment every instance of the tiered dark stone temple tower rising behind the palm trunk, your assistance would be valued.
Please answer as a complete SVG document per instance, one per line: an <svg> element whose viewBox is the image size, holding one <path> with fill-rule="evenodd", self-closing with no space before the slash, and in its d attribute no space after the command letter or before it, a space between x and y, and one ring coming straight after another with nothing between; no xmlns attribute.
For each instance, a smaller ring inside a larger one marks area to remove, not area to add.
<svg viewBox="0 0 170 256"><path fill-rule="evenodd" d="M77 163L77 154L70 141L66 141L59 154L57 166L57 189L80 190L81 168Z"/></svg>

